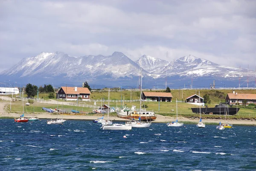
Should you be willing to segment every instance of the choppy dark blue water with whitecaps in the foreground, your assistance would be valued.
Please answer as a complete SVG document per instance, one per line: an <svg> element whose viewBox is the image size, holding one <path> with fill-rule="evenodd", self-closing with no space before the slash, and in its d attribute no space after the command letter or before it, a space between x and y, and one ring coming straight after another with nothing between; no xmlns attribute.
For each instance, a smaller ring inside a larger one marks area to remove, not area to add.
<svg viewBox="0 0 256 171"><path fill-rule="evenodd" d="M1 119L0 170L256 170L256 127L100 127L89 121L47 125Z"/></svg>

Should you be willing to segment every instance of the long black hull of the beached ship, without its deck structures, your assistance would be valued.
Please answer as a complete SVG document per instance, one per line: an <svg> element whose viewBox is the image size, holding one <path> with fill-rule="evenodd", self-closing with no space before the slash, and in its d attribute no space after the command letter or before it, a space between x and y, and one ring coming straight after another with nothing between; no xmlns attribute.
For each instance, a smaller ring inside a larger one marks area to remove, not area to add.
<svg viewBox="0 0 256 171"><path fill-rule="evenodd" d="M221 110L220 110L221 108ZM240 110L240 108L234 108L234 107L205 107L205 108L191 108L193 113L204 113L204 114L214 114L214 115L225 115L228 113L228 115L236 115L236 113Z"/></svg>

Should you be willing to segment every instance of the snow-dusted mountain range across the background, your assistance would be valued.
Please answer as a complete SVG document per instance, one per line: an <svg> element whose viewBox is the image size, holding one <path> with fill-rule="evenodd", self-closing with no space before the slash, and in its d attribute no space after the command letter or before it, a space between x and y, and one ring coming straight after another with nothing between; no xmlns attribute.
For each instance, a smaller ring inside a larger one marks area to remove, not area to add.
<svg viewBox="0 0 256 171"><path fill-rule="evenodd" d="M42 52L34 57L23 58L12 68L0 73L1 80L15 80L21 84L77 85L87 81L98 87L136 87L143 70L145 88L208 87L215 80L218 87L255 86L255 71L221 66L193 55L171 62L141 56L132 61L122 52L112 55L70 56L64 52Z"/></svg>

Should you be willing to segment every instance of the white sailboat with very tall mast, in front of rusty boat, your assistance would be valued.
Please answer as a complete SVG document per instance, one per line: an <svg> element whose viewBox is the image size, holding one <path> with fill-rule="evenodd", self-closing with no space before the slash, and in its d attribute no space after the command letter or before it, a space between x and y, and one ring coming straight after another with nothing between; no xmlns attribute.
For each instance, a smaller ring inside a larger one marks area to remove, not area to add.
<svg viewBox="0 0 256 171"><path fill-rule="evenodd" d="M142 69L141 69L142 76ZM148 128L152 124L150 121L141 121L141 98L142 98L142 77L140 79L140 112L139 112L139 120L131 120L125 123L125 125L131 125L133 128Z"/></svg>

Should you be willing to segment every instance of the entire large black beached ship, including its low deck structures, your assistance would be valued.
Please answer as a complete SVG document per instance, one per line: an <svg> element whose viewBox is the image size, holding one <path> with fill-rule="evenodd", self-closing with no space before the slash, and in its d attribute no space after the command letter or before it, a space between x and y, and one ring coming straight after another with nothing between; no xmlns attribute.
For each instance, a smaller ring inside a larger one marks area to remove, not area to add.
<svg viewBox="0 0 256 171"><path fill-rule="evenodd" d="M219 110L221 110L221 115L225 115L227 109L229 110L229 115L236 115L236 113L238 113L238 111L240 110L240 108L235 108L235 107L228 107L227 104L217 104L215 105L215 107L204 107L201 108L201 113L204 114L214 114L214 115L218 115L220 113ZM199 113L199 108L191 108L193 113Z"/></svg>

